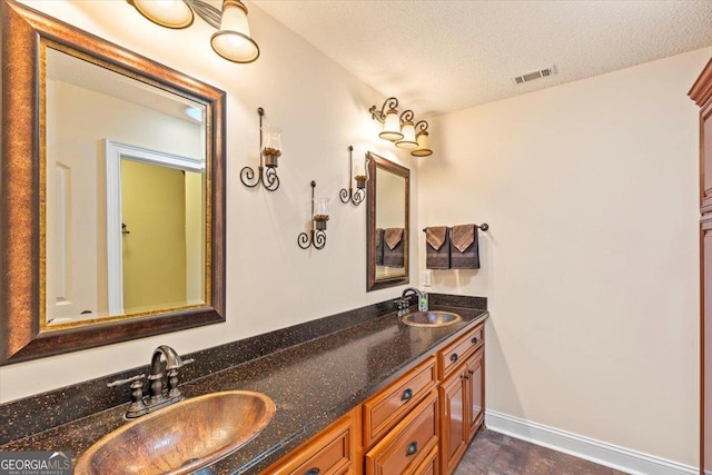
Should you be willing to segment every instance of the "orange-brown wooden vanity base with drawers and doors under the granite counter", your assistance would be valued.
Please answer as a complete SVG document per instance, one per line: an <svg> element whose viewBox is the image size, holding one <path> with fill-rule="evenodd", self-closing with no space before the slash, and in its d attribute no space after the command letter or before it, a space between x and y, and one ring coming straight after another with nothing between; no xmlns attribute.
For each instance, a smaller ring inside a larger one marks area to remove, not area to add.
<svg viewBox="0 0 712 475"><path fill-rule="evenodd" d="M449 475L483 424L484 397L481 324L263 475Z"/></svg>

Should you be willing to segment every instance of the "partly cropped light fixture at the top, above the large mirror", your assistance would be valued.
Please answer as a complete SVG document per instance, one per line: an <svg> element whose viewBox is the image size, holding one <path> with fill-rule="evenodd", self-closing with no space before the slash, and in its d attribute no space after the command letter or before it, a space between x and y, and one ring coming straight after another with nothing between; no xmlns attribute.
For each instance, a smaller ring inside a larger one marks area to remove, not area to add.
<svg viewBox="0 0 712 475"><path fill-rule="evenodd" d="M247 7L240 0L222 0L221 12L202 0L126 1L146 19L166 28L188 28L197 14L218 30L210 46L228 61L246 63L259 57L259 47L249 33Z"/></svg>

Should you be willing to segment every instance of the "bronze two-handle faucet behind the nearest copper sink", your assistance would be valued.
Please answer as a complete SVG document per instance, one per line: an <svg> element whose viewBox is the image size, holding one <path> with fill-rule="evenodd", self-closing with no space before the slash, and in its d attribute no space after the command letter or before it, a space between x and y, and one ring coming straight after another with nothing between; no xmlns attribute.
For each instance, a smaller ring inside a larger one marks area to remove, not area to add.
<svg viewBox="0 0 712 475"><path fill-rule="evenodd" d="M164 375L161 360L166 359L166 374ZM131 404L125 417L132 419L144 414L166 407L169 404L182 400L185 396L178 389L178 369L192 363L194 359L182 359L178 353L168 345L161 345L154 350L151 356L151 373L148 375L148 396L144 396L142 379L146 375L132 376L128 379L119 379L107 384L107 387L117 387L130 383ZM166 388L164 390L164 380Z"/></svg>

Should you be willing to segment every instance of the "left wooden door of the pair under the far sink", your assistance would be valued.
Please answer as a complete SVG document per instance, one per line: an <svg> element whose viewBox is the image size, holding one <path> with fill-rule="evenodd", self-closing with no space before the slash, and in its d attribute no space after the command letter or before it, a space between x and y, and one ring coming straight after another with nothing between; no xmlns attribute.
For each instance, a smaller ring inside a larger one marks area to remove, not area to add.
<svg viewBox="0 0 712 475"><path fill-rule="evenodd" d="M441 406L443 407L441 424L441 459L443 475L449 475L466 447L465 422L465 369L453 373L441 385Z"/></svg>

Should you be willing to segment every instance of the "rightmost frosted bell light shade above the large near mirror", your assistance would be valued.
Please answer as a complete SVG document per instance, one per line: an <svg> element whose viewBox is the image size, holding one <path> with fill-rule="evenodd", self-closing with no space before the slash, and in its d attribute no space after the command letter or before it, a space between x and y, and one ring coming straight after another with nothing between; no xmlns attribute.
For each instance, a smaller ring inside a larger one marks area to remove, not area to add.
<svg viewBox="0 0 712 475"><path fill-rule="evenodd" d="M222 0L220 30L212 34L215 52L233 62L253 62L259 57L259 47L250 38L247 7L237 0Z"/></svg>

